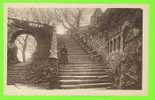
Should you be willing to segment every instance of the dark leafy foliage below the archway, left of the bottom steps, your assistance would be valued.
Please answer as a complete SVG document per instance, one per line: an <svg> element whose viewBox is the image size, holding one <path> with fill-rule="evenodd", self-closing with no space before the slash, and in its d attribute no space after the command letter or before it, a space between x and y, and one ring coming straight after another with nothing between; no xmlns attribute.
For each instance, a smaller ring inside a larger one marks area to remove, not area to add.
<svg viewBox="0 0 155 100"><path fill-rule="evenodd" d="M57 61L52 61L50 59L32 63L27 68L27 83L35 85L43 83L48 83L49 85L52 84L51 82L56 78L57 67Z"/></svg>

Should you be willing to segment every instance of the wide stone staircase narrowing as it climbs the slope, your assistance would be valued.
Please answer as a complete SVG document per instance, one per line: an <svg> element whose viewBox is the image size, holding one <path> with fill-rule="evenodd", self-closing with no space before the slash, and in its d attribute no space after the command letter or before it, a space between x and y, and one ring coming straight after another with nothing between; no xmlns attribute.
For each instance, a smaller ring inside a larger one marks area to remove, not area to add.
<svg viewBox="0 0 155 100"><path fill-rule="evenodd" d="M109 88L112 84L109 69L92 61L80 44L69 35L64 35L63 40L68 49L69 63L60 65L60 88Z"/></svg>

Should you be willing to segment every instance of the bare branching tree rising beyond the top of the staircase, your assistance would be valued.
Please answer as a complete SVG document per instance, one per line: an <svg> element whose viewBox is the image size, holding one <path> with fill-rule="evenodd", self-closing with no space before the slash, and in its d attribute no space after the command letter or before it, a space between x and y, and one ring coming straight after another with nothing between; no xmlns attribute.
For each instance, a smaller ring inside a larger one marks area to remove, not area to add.
<svg viewBox="0 0 155 100"><path fill-rule="evenodd" d="M55 18L61 23L64 28L79 29L81 22L84 20L84 14L90 9L86 8L55 8Z"/></svg>

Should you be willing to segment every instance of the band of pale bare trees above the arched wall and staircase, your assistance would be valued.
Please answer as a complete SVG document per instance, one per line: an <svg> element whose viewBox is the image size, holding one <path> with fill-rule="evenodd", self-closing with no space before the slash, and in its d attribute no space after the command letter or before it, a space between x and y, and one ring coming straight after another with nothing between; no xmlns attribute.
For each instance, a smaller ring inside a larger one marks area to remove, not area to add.
<svg viewBox="0 0 155 100"><path fill-rule="evenodd" d="M10 8L9 17L48 25L62 24L65 29L78 29L93 10L90 8Z"/></svg>

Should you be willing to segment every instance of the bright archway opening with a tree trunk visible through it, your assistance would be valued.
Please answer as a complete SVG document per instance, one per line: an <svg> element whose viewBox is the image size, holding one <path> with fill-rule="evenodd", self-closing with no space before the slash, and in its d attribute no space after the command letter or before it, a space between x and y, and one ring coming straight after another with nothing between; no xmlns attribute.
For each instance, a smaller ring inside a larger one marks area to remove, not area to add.
<svg viewBox="0 0 155 100"><path fill-rule="evenodd" d="M21 34L17 36L15 44L18 48L18 60L20 62L32 62L33 53L37 48L37 41L35 37L29 34Z"/></svg>

